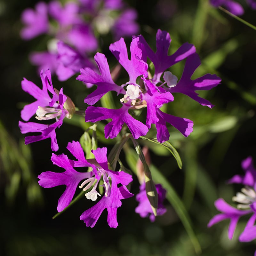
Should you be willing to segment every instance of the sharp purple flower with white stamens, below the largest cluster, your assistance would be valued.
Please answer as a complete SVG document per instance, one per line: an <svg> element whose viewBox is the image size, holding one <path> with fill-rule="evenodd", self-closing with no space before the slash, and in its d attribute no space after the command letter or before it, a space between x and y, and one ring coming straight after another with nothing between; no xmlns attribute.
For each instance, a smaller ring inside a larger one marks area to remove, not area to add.
<svg viewBox="0 0 256 256"><path fill-rule="evenodd" d="M69 142L67 148L77 160L70 160L64 154L52 154L53 164L64 168L65 172L43 172L38 176L40 179L39 185L44 188L66 185L66 189L60 197L57 207L58 212L61 212L70 204L78 184L83 180L79 188L83 188L84 191L91 188L90 191L85 193L86 198L92 201L96 201L98 196L102 196L102 198L97 204L83 212L80 220L83 220L87 227L94 227L103 210L107 208L108 225L111 228L116 228L118 226L116 212L117 208L122 205L121 200L133 196L125 187L132 181L132 176L123 171L114 172L109 170L107 148L92 150L95 159L87 160L84 157L84 152L79 142ZM77 172L74 169L76 167L91 167L92 171ZM101 179L103 180L103 188L105 190L104 195L100 195L96 190ZM118 184L121 184L121 186L117 187Z"/></svg>

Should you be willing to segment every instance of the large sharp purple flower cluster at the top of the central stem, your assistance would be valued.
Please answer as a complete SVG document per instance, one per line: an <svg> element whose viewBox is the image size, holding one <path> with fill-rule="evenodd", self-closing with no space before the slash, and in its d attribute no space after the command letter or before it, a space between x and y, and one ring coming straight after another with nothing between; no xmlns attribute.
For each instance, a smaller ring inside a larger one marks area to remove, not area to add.
<svg viewBox="0 0 256 256"><path fill-rule="evenodd" d="M82 68L81 75L76 78L85 83L97 85L95 91L84 99L84 102L90 105L85 111L85 121L97 122L111 118L112 121L105 126L105 137L111 139L117 136L124 124L128 126L135 139L146 135L151 124L155 124L157 140L164 142L170 136L166 122L187 137L192 132L193 122L187 118L164 113L160 108L174 100L172 93L175 92L188 95L201 105L212 108L213 105L208 100L200 98L195 91L210 90L221 80L218 76L210 74L192 80L192 74L201 64L195 46L185 43L174 54L168 55L170 43L170 35L159 29L156 34L156 52L153 52L143 36L134 36L130 45L130 59L123 38L111 44L109 50L129 76L129 80L127 79L128 81L121 85L113 81L105 55L96 53L94 59L100 74L91 68ZM151 60L155 66L155 74L152 78L148 75L147 59ZM184 59L186 59L184 71L178 79L167 69ZM110 91L117 93L120 108L107 109L92 106ZM129 110L142 108L147 108L145 124L129 114Z"/></svg>

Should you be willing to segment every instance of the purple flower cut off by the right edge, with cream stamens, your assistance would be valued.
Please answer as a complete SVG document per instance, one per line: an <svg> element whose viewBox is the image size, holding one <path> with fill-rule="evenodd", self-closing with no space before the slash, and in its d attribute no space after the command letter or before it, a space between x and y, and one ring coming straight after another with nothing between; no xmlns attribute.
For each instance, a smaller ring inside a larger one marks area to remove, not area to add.
<svg viewBox="0 0 256 256"><path fill-rule="evenodd" d="M222 198L215 201L217 210L222 213L215 215L208 223L208 227L225 220L230 219L228 227L228 238L232 239L237 222L243 215L252 213L252 216L248 220L244 231L239 236L240 242L250 242L256 238L256 169L253 167L252 157L247 157L242 162L242 168L245 175L235 175L228 182L243 184L245 187L241 189L241 192L236 193L236 196L232 198L233 201L237 202L237 208L232 207L226 203ZM255 252L256 255L256 252Z"/></svg>

